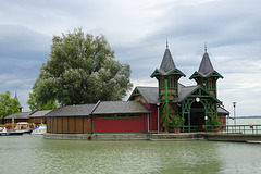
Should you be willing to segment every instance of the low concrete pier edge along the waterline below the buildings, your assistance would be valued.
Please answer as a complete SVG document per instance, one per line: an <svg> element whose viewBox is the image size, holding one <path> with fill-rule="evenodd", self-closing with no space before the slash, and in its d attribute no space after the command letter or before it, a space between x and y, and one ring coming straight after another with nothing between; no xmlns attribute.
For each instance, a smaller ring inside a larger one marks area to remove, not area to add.
<svg viewBox="0 0 261 174"><path fill-rule="evenodd" d="M74 139L74 140L209 140L229 142L261 142L261 134L206 134L206 133L181 133L181 134L45 134L46 139Z"/></svg>

